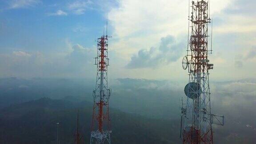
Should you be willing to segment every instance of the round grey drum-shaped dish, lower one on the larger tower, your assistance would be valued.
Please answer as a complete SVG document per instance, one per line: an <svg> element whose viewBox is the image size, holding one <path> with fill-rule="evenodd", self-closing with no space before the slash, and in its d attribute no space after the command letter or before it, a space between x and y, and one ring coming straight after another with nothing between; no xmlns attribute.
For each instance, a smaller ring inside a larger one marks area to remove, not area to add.
<svg viewBox="0 0 256 144"><path fill-rule="evenodd" d="M197 83L191 82L185 86L184 92L188 98L195 99L200 95L201 87Z"/></svg>

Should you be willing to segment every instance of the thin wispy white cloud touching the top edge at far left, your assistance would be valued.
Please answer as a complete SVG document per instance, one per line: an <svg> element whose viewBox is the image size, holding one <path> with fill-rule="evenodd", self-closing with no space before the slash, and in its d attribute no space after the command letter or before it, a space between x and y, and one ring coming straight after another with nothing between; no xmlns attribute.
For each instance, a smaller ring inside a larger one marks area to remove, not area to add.
<svg viewBox="0 0 256 144"><path fill-rule="evenodd" d="M10 0L9 8L27 8L39 4L40 0Z"/></svg>

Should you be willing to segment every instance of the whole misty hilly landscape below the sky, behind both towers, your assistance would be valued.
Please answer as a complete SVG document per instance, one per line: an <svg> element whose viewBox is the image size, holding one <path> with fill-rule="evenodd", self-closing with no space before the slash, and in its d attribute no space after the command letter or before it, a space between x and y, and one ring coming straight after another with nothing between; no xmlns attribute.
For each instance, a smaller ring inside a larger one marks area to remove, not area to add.
<svg viewBox="0 0 256 144"><path fill-rule="evenodd" d="M0 79L1 143L54 144L56 122L60 122L60 142L72 144L77 108L80 109L80 134L84 143L88 143L92 81ZM253 112L256 80L212 82L211 85L213 113L217 111L225 116L224 127L214 126L215 142L253 143L256 134L256 114ZM179 143L181 86L168 80L113 80L110 100L112 142ZM245 101L248 104L245 105Z"/></svg>

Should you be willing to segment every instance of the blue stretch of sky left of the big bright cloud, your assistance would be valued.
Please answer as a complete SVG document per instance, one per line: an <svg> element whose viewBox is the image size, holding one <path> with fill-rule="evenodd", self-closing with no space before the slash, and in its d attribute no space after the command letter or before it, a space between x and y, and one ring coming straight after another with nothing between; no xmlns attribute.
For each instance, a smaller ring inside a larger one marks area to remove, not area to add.
<svg viewBox="0 0 256 144"><path fill-rule="evenodd" d="M21 0L22 1L22 0ZM63 47L56 41L67 38L76 43L92 47L94 37L103 32L106 19L104 13L94 9L90 2L77 2L83 6L73 6L75 2L51 0L23 0L17 8L8 8L19 1L2 1L1 50L12 51L10 47L27 51L55 51ZM25 4L26 3L26 4ZM18 5L18 4L17 4ZM75 11L80 10L80 13ZM59 13L58 13L59 12Z"/></svg>

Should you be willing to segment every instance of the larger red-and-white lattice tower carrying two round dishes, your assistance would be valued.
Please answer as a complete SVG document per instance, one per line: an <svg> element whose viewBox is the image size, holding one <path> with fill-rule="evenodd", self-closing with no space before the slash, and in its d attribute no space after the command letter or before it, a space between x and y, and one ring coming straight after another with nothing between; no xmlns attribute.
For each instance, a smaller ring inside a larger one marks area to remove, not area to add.
<svg viewBox="0 0 256 144"><path fill-rule="evenodd" d="M189 81L184 88L185 102L182 98L180 137L183 144L213 144L212 124L224 125L224 116L213 115L211 110L208 71L213 69L213 64L208 60L208 54L212 53L212 48L208 49L209 0L192 1L189 13L191 10L188 25L191 36L187 56L182 61L184 70L188 68Z"/></svg>

